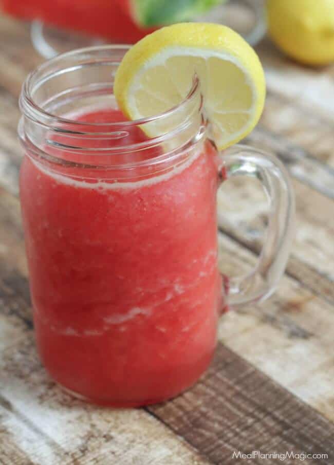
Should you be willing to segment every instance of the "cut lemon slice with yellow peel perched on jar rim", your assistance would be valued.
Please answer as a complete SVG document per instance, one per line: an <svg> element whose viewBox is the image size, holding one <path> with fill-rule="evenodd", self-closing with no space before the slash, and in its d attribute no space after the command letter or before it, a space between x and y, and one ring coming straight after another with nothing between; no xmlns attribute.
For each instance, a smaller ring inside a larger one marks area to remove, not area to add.
<svg viewBox="0 0 334 465"><path fill-rule="evenodd" d="M254 50L226 26L180 23L147 35L117 70L116 100L129 119L158 115L187 97L195 73L217 147L249 134L264 106L264 72Z"/></svg>

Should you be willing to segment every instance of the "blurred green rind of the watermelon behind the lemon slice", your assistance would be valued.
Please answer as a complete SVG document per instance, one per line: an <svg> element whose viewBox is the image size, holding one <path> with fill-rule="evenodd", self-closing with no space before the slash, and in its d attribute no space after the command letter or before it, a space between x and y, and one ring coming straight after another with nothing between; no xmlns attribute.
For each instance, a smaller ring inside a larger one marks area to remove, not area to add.
<svg viewBox="0 0 334 465"><path fill-rule="evenodd" d="M192 20L220 3L224 0L132 0L132 9L141 27L155 27Z"/></svg>

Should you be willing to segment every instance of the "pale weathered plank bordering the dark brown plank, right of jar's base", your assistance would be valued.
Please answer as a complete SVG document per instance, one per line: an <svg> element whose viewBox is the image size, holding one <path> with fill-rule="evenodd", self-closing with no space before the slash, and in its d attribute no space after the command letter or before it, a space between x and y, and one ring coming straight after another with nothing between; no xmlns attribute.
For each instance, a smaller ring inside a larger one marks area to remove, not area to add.
<svg viewBox="0 0 334 465"><path fill-rule="evenodd" d="M251 271L255 256L220 236L220 268ZM334 420L333 306L288 276L261 305L228 312L219 340L294 395Z"/></svg>

